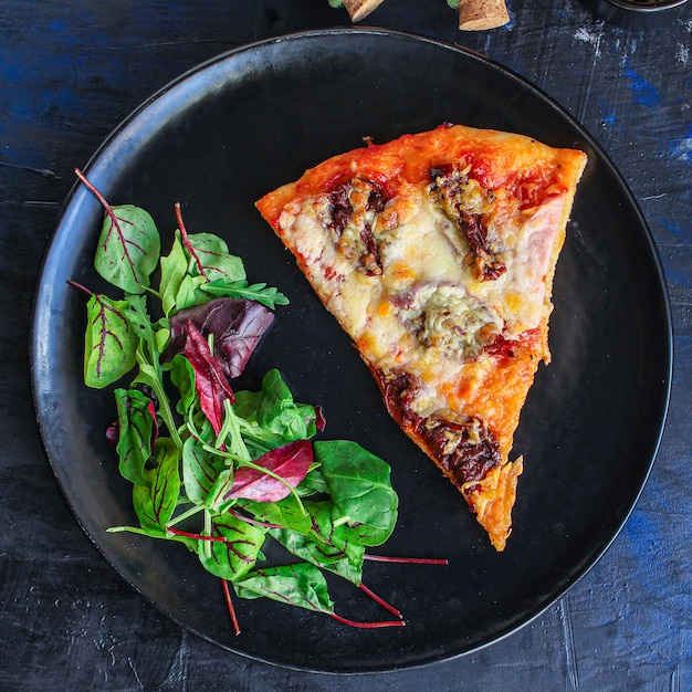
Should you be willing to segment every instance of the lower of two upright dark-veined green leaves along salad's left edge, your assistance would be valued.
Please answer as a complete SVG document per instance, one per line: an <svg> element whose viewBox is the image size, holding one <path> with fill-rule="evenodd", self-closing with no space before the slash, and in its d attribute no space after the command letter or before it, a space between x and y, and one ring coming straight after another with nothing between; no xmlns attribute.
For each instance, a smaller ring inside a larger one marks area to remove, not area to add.
<svg viewBox="0 0 692 692"><path fill-rule="evenodd" d="M133 504L144 531L166 530L180 496L179 452L170 438L159 438L154 450L156 465L149 471L149 486L133 487Z"/></svg>

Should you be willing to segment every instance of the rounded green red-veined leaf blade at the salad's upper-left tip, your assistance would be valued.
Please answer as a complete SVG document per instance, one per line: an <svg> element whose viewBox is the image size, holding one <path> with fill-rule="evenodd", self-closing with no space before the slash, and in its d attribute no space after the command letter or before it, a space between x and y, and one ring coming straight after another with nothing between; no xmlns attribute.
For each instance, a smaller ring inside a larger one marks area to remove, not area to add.
<svg viewBox="0 0 692 692"><path fill-rule="evenodd" d="M161 244L154 219L134 205L106 207L96 271L126 293L143 293L156 269Z"/></svg>

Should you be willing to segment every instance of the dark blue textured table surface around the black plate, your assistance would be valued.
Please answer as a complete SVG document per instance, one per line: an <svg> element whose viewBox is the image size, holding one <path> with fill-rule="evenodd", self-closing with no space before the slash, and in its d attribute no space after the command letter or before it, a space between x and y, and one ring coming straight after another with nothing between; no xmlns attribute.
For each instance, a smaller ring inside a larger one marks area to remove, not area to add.
<svg viewBox="0 0 692 692"><path fill-rule="evenodd" d="M41 258L74 168L198 63L259 39L346 25L348 17L326 0L2 2L0 689L692 689L692 12L639 30L604 23L577 0L507 6L511 23L486 32L460 32L444 0L386 0L366 23L487 55L600 141L641 206L668 282L675 349L668 421L623 531L546 612L455 660L335 678L202 641L112 570L45 461L27 352Z"/></svg>

